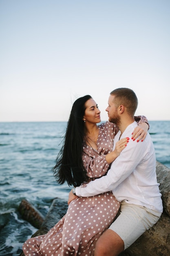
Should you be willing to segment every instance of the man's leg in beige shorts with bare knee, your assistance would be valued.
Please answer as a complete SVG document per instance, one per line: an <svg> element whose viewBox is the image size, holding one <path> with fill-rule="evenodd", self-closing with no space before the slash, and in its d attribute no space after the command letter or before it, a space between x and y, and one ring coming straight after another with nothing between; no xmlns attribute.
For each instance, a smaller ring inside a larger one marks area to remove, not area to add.
<svg viewBox="0 0 170 256"><path fill-rule="evenodd" d="M99 238L95 256L119 255L161 217L157 211L126 202L121 202L120 209L120 215Z"/></svg>

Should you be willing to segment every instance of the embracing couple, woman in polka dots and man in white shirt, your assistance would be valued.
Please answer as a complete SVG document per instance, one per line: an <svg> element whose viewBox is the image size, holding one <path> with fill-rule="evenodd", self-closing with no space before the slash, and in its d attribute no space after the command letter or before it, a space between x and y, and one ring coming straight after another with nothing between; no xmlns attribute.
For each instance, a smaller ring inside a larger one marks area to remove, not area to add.
<svg viewBox="0 0 170 256"><path fill-rule="evenodd" d="M74 186L68 210L47 234L26 240L25 256L116 256L159 220L155 151L148 120L134 118L137 104L132 90L113 90L109 121L97 125L100 111L91 96L73 103L53 168L57 182Z"/></svg>

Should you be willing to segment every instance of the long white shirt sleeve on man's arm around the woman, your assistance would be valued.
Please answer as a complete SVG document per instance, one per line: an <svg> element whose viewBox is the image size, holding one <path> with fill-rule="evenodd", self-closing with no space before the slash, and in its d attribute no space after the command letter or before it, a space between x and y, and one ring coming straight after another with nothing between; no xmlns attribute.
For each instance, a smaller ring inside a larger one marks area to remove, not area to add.
<svg viewBox="0 0 170 256"><path fill-rule="evenodd" d="M99 179L89 182L85 187L76 187L76 195L88 197L115 189L135 170L136 166L142 161L145 151L147 150L144 141L142 143L134 143L134 141L130 140L128 146L111 164L108 173Z"/></svg>

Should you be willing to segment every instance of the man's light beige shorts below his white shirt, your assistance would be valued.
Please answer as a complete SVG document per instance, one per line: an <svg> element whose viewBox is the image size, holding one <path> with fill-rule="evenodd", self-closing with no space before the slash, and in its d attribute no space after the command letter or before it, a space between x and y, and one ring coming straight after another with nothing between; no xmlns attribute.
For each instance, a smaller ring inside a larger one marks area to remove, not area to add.
<svg viewBox="0 0 170 256"><path fill-rule="evenodd" d="M124 241L124 249L134 243L147 229L161 217L161 212L147 207L121 202L120 215L110 225Z"/></svg>

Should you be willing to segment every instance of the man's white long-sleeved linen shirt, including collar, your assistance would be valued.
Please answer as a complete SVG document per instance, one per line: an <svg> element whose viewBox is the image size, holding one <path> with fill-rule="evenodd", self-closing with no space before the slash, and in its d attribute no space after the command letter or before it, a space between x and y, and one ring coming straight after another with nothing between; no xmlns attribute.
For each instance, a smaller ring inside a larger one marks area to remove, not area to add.
<svg viewBox="0 0 170 256"><path fill-rule="evenodd" d="M157 183L154 146L149 133L142 142L131 139L136 126L137 123L134 121L121 135L122 138L129 137L129 142L111 164L107 175L89 182L85 187L76 187L76 195L88 197L112 191L119 202L124 200L159 212L163 211ZM115 136L113 150L120 134L119 131Z"/></svg>

